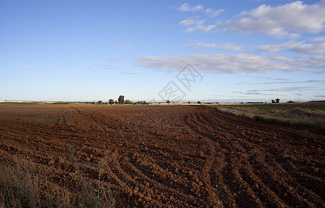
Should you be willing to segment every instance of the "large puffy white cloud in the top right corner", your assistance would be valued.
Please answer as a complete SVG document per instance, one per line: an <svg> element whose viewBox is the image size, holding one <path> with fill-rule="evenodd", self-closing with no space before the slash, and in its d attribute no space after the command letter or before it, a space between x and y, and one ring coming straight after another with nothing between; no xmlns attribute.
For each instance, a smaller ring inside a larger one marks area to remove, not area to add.
<svg viewBox="0 0 325 208"><path fill-rule="evenodd" d="M263 33L274 37L298 37L299 33L317 34L325 29L325 0L313 5L295 1L282 6L262 5L241 12L218 26L223 31Z"/></svg>

